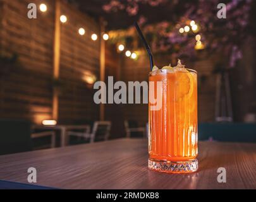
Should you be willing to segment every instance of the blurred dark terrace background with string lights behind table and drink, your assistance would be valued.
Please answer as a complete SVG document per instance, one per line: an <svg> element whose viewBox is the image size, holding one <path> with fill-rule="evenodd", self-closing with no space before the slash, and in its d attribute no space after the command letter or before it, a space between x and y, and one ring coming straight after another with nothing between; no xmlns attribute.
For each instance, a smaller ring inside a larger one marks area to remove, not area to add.
<svg viewBox="0 0 256 202"><path fill-rule="evenodd" d="M2 153L96 141L91 134L145 137L147 104L93 100L95 81L107 76L148 80L135 21L158 67L180 58L198 72L199 139L255 141L256 1L30 3L0 0Z"/></svg>

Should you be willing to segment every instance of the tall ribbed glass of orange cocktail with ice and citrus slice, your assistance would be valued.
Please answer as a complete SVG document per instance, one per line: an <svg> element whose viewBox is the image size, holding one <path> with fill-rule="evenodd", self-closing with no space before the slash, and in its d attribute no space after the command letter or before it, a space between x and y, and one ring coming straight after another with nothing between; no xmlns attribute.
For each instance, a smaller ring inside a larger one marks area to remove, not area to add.
<svg viewBox="0 0 256 202"><path fill-rule="evenodd" d="M154 70L155 69L155 70ZM197 162L197 72L181 65L154 68L149 74L149 168L195 172ZM159 85L157 85L159 83ZM151 95L150 95L151 94ZM158 103L159 105L159 103Z"/></svg>

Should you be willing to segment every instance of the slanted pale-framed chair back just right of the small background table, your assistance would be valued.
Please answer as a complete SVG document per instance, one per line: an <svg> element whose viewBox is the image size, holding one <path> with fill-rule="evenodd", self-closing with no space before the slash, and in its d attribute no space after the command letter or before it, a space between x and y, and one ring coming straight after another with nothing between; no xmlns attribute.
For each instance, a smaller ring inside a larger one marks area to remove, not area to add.
<svg viewBox="0 0 256 202"><path fill-rule="evenodd" d="M110 121L95 121L90 141L106 141L109 138L110 129Z"/></svg>

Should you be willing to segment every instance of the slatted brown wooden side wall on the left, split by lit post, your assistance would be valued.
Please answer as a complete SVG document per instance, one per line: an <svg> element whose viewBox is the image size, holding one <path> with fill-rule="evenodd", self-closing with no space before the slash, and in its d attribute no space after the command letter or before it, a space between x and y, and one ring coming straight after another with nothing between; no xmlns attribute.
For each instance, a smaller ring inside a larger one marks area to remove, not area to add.
<svg viewBox="0 0 256 202"><path fill-rule="evenodd" d="M33 1L39 7L42 1ZM61 2L60 79L52 78L54 1L44 1L47 11L37 10L37 19L28 19L27 0L0 0L0 117L28 119L40 124L52 118L52 89L58 86L59 122L73 123L98 119L99 107L92 102L88 80L99 79L99 22L70 4ZM85 35L78 35L84 27ZM3 57L18 56L16 62Z"/></svg>

